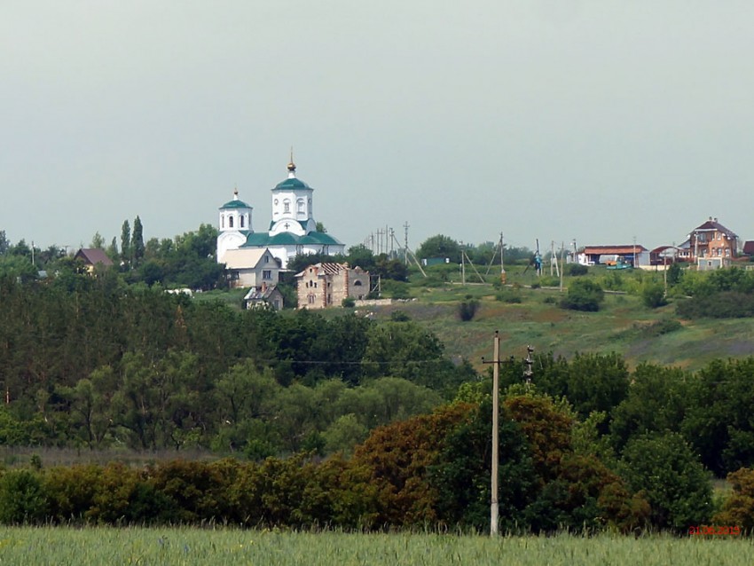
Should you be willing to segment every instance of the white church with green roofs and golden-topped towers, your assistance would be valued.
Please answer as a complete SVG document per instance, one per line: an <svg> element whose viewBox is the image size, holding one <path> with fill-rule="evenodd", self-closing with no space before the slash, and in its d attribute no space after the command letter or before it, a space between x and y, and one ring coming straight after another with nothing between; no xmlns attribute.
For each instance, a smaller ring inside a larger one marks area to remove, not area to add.
<svg viewBox="0 0 754 566"><path fill-rule="evenodd" d="M339 240L317 232L312 206L314 189L296 178L295 170L291 160L287 179L272 189L272 219L267 232L254 232L253 208L239 200L238 189L233 192L233 200L220 207L217 263L228 263L232 255L232 264L238 269L248 255L251 268L259 261L259 251L269 250L285 270L288 261L298 254L345 253L345 245ZM237 251L228 255L231 250Z"/></svg>

